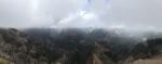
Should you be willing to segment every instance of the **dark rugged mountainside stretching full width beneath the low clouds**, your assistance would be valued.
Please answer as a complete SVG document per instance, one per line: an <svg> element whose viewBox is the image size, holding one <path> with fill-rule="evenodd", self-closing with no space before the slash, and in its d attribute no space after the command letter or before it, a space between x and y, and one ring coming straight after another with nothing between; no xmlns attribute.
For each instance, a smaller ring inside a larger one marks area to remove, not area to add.
<svg viewBox="0 0 162 64"><path fill-rule="evenodd" d="M1 28L0 59L8 64L126 64L160 55L161 42L160 38L137 42L104 29Z"/></svg>

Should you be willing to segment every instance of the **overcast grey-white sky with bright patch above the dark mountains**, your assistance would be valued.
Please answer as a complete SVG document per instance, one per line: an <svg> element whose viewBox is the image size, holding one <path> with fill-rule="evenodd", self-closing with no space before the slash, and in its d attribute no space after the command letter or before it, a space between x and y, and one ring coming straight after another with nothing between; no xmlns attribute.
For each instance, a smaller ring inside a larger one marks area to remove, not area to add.
<svg viewBox="0 0 162 64"><path fill-rule="evenodd" d="M162 27L162 0L0 0L0 27Z"/></svg>

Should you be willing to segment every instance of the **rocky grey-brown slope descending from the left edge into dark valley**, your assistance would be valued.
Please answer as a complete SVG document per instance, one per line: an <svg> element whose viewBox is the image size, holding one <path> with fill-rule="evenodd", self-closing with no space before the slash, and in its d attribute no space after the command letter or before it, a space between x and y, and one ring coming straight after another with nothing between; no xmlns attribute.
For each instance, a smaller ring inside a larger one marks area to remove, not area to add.
<svg viewBox="0 0 162 64"><path fill-rule="evenodd" d="M50 56L43 56L41 53L49 53L49 50L30 43L25 34L13 28L0 29L0 52L1 57L15 64L48 64L51 63Z"/></svg>

